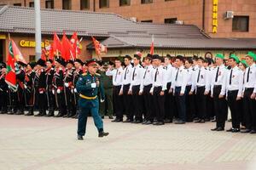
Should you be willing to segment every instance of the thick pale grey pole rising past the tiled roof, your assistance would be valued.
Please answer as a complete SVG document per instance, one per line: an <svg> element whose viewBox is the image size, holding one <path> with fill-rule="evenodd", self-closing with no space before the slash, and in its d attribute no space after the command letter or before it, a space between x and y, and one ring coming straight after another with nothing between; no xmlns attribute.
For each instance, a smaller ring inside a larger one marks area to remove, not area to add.
<svg viewBox="0 0 256 170"><path fill-rule="evenodd" d="M35 8L35 31L36 31L36 60L41 58L41 11L40 0L34 0Z"/></svg>

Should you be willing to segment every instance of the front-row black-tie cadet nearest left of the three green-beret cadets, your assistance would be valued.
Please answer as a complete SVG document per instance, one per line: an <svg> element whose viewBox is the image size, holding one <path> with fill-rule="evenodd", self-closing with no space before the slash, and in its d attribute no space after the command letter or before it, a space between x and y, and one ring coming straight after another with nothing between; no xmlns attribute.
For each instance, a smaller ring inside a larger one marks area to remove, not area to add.
<svg viewBox="0 0 256 170"><path fill-rule="evenodd" d="M207 117L207 94L210 91L210 81L208 77L208 71L204 67L204 59L200 57L197 61L198 69L195 71L195 77L193 77L192 92L195 90L195 105L198 112L198 120L195 122L204 123Z"/></svg>

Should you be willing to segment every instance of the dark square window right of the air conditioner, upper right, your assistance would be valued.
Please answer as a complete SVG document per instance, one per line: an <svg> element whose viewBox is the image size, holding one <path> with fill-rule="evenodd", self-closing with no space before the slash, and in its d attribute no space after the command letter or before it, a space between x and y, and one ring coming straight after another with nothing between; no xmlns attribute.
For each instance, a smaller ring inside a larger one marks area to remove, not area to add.
<svg viewBox="0 0 256 170"><path fill-rule="evenodd" d="M232 31L249 31L249 16L234 16Z"/></svg>

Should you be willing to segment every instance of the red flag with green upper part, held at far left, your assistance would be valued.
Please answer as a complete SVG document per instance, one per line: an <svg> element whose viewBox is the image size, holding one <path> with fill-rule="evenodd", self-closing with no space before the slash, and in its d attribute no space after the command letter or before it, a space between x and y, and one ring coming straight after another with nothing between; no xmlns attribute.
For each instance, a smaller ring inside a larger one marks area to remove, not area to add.
<svg viewBox="0 0 256 170"><path fill-rule="evenodd" d="M7 73L5 77L5 82L9 85L14 91L17 90L16 86L16 74L15 74L15 51L13 47L12 40L9 41L9 53L7 59Z"/></svg>

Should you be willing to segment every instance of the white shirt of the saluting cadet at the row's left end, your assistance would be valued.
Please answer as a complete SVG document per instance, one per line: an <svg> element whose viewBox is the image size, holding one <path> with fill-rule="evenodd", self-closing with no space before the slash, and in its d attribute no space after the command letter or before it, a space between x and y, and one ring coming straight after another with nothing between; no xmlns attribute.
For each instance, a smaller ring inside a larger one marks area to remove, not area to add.
<svg viewBox="0 0 256 170"><path fill-rule="evenodd" d="M106 75L108 77L112 77L113 86L122 85L123 74L124 74L124 70L121 66L118 69L114 69L113 71L111 70L106 71Z"/></svg>

